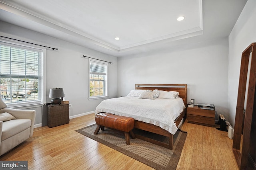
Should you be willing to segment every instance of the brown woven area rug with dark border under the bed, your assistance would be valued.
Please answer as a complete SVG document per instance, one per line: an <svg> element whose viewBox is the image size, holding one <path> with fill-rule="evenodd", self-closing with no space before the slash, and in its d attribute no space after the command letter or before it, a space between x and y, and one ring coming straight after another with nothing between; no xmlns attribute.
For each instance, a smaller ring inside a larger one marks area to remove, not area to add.
<svg viewBox="0 0 256 170"><path fill-rule="evenodd" d="M123 132L105 127L104 131L100 130L98 135L94 135L93 133L96 127L97 125L94 124L76 131L156 170L176 169L187 137L187 133L177 131L173 137L173 150L170 150L137 138L130 139L130 145L126 145ZM138 129L136 129L136 133L140 133L140 135L144 134L147 137L164 143L169 142L169 139L162 135L148 133Z"/></svg>

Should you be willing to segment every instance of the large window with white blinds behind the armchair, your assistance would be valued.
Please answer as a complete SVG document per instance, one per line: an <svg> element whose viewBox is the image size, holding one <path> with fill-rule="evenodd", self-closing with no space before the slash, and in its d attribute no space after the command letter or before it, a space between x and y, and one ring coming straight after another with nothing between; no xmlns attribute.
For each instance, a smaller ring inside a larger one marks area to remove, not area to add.
<svg viewBox="0 0 256 170"><path fill-rule="evenodd" d="M6 104L43 102L43 51L0 41L0 93Z"/></svg>

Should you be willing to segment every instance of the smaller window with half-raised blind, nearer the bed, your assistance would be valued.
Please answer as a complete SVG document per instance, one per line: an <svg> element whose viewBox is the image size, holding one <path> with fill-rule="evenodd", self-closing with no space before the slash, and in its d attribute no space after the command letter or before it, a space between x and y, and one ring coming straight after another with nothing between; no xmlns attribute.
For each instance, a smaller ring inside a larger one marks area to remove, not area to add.
<svg viewBox="0 0 256 170"><path fill-rule="evenodd" d="M108 96L107 70L107 63L89 59L89 99L98 99Z"/></svg>

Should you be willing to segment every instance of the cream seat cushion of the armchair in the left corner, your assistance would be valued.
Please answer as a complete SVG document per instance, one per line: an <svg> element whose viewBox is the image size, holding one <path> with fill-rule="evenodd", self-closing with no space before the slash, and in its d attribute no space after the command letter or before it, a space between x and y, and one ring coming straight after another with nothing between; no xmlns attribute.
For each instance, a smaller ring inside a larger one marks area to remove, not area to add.
<svg viewBox="0 0 256 170"><path fill-rule="evenodd" d="M31 126L30 119L16 119L4 122L2 127L2 141L28 129Z"/></svg>

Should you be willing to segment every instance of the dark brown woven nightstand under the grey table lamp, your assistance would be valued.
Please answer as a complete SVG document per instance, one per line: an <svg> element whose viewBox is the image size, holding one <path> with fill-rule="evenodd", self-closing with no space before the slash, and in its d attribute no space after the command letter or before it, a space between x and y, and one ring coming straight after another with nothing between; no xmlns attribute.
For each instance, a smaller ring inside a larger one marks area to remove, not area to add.
<svg viewBox="0 0 256 170"><path fill-rule="evenodd" d="M50 104L47 106L47 125L55 127L69 123L69 104Z"/></svg>

